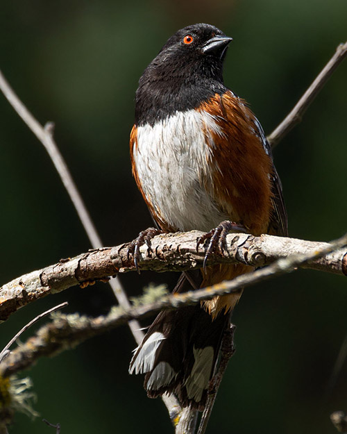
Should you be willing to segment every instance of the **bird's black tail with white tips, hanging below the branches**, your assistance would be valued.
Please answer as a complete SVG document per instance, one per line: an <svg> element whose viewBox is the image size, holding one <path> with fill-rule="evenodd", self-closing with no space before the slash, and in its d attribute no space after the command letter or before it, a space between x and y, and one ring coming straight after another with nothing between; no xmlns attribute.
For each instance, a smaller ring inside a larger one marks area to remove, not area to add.
<svg viewBox="0 0 347 434"><path fill-rule="evenodd" d="M135 349L130 374L146 374L149 397L174 392L183 406L202 410L229 322L224 311L212 321L199 304L160 312Z"/></svg>

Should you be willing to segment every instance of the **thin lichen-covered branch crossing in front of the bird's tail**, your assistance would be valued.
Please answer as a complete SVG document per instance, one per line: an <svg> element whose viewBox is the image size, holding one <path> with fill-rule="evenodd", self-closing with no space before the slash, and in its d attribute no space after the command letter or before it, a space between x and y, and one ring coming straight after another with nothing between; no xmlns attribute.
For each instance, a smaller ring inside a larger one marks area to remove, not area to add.
<svg viewBox="0 0 347 434"><path fill-rule="evenodd" d="M347 234L326 245L321 250L280 258L268 267L257 269L253 273L243 274L232 281L225 281L208 288L183 294L169 294L144 306L126 310L115 308L105 317L89 318L80 317L77 314L59 316L56 314L53 323L43 326L34 337L22 344L21 347L11 351L0 364L0 375L10 376L22 371L22 369L33 365L42 356L51 356L67 348L75 347L92 336L99 335L128 322L129 319L139 319L162 309L176 309L180 308L180 306L196 304L201 300L212 299L217 295L239 292L242 287L254 285L280 274L293 272L301 265L341 249L346 245Z"/></svg>

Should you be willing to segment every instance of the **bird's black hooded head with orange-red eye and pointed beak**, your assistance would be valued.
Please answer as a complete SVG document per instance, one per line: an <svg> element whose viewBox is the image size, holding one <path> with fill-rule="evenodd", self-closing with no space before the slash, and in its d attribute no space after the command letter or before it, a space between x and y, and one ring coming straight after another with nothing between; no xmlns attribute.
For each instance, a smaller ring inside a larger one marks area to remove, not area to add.
<svg viewBox="0 0 347 434"><path fill-rule="evenodd" d="M139 80L135 122L154 124L225 92L223 60L231 40L210 24L187 26L171 36Z"/></svg>

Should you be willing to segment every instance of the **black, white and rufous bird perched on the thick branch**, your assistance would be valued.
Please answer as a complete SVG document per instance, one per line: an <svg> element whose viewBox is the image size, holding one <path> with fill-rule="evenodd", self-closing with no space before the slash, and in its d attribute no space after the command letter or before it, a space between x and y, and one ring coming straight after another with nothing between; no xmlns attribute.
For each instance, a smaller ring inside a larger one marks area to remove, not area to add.
<svg viewBox="0 0 347 434"><path fill-rule="evenodd" d="M194 24L169 37L146 67L135 94L130 160L155 228L129 247L138 268L139 246L157 233L203 231L204 266L184 272L174 292L196 290L253 271L208 265L223 253L229 231L287 235L282 185L271 147L246 101L223 83L231 37ZM242 291L159 313L134 350L130 374L145 374L149 397L175 393L182 406L203 410L221 340Z"/></svg>

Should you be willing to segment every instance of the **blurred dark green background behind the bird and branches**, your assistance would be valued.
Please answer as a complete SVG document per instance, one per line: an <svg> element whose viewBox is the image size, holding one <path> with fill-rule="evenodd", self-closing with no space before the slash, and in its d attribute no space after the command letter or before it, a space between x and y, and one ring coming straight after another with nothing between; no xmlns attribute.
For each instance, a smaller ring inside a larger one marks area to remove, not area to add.
<svg viewBox="0 0 347 434"><path fill-rule="evenodd" d="M151 225L130 174L128 134L144 67L178 28L209 22L234 38L225 82L251 103L266 133L287 115L347 39L346 0L1 1L1 68L56 141L103 242ZM275 151L292 237L346 231L347 62ZM90 248L42 145L0 95L0 284ZM122 276L129 294L170 274ZM347 369L328 382L347 331L346 278L299 271L244 292L230 362L208 433L335 433L347 410ZM97 315L115 303L108 285L77 287L28 306L1 325L0 347L38 313L69 301ZM31 330L26 336L33 333ZM24 339L24 338L23 338ZM67 433L170 433L160 400L128 376L124 326L26 372L35 409ZM17 415L10 434L53 433Z"/></svg>

